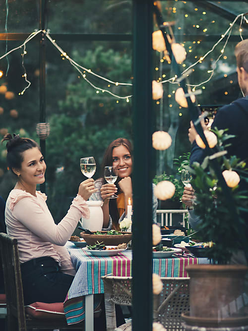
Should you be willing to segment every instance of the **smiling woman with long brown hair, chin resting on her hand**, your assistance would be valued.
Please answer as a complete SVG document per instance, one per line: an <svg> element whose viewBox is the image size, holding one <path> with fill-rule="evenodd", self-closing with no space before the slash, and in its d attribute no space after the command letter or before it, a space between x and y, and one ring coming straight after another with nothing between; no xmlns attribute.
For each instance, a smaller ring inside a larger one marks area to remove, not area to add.
<svg viewBox="0 0 248 331"><path fill-rule="evenodd" d="M118 179L115 184L106 182L103 171L106 166L117 168ZM103 201L103 229L119 230L119 223L127 213L128 198L132 204L132 145L128 139L118 138L112 141L105 151L102 161L102 178L95 182L98 192L94 193L90 200ZM154 184L153 184L154 187ZM117 194L117 199L109 199L113 194ZM153 222L156 223L156 210L158 200L153 195Z"/></svg>

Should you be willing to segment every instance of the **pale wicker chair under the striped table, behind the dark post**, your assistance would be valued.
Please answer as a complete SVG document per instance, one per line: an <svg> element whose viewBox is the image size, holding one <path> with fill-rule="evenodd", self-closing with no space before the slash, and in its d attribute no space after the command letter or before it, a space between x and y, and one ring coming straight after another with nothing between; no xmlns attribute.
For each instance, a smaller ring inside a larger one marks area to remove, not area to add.
<svg viewBox="0 0 248 331"><path fill-rule="evenodd" d="M131 325L116 328L115 304L131 306L132 278L103 276L107 331L129 331ZM182 313L189 312L189 278L162 277L163 290L153 297L153 320L167 331L184 331Z"/></svg>

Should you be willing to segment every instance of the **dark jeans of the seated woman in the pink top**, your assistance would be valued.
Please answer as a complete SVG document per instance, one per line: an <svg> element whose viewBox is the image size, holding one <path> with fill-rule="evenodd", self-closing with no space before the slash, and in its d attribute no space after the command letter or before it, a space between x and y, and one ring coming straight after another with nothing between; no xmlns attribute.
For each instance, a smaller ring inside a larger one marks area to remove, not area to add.
<svg viewBox="0 0 248 331"><path fill-rule="evenodd" d="M73 276L63 273L53 258L43 257L21 264L24 303L63 302Z"/></svg>

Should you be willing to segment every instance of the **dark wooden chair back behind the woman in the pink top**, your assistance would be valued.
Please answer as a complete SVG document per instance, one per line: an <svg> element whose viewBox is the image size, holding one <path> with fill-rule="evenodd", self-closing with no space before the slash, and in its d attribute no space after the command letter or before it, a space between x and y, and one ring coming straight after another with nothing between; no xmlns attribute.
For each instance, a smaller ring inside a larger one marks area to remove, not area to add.
<svg viewBox="0 0 248 331"><path fill-rule="evenodd" d="M15 325L15 330L26 330L17 239L0 233L0 253L6 293L8 328L14 330L14 327L11 329L10 326Z"/></svg>

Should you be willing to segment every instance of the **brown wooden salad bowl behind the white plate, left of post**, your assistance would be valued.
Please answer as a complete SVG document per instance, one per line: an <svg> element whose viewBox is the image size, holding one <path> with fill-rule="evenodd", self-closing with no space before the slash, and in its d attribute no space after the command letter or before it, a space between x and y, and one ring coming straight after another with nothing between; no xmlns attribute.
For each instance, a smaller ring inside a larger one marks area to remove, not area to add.
<svg viewBox="0 0 248 331"><path fill-rule="evenodd" d="M94 245L97 241L103 243L104 245L117 246L119 244L127 244L132 239L131 232L122 232L121 234L106 234L107 231L100 231L102 234L86 234L85 232L80 232L80 237L83 238L87 245Z"/></svg>

